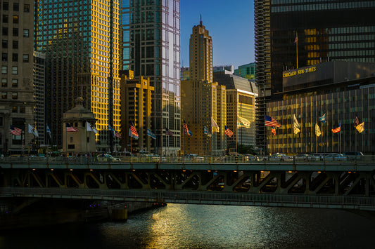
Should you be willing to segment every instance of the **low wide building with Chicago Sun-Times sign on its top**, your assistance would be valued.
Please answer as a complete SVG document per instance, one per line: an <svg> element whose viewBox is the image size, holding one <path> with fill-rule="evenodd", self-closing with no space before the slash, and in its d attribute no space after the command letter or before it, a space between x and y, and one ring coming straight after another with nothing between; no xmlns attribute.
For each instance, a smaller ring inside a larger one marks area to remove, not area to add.
<svg viewBox="0 0 375 249"><path fill-rule="evenodd" d="M281 123L276 135L267 127L268 152L374 154L375 63L323 62L283 75L282 100L267 104L267 114ZM293 116L300 125L296 134ZM322 116L325 122L320 121ZM356 116L364 122L362 133L354 126ZM333 133L338 126L341 131Z"/></svg>

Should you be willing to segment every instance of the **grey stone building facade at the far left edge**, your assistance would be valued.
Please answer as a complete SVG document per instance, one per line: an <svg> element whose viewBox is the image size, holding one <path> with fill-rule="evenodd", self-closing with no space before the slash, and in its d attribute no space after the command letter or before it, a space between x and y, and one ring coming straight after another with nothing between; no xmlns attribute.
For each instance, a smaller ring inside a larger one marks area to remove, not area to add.
<svg viewBox="0 0 375 249"><path fill-rule="evenodd" d="M33 42L34 1L1 1L1 154L28 153L36 144L34 135L27 133L34 123ZM22 130L21 135L9 133L11 126ZM38 129L38 127L37 127Z"/></svg>

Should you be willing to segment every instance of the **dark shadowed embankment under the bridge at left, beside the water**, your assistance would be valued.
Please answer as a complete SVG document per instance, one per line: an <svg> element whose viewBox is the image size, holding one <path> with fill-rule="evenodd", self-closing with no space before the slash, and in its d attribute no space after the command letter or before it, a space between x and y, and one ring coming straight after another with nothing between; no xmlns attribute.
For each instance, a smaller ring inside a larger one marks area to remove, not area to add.
<svg viewBox="0 0 375 249"><path fill-rule="evenodd" d="M1 200L0 230L99 220L125 221L132 213L159 206L165 204L13 198Z"/></svg>

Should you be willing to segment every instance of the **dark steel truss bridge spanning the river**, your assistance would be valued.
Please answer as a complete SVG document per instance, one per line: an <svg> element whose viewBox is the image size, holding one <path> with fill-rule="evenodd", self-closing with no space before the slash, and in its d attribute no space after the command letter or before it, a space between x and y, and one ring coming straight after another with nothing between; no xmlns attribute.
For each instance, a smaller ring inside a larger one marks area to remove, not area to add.
<svg viewBox="0 0 375 249"><path fill-rule="evenodd" d="M375 210L375 158L0 159L0 197Z"/></svg>

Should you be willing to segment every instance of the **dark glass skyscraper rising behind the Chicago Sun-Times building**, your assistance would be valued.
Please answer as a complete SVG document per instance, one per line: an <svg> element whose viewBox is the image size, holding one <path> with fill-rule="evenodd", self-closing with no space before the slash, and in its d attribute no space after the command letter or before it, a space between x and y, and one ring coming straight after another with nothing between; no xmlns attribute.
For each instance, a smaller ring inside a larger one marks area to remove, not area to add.
<svg viewBox="0 0 375 249"><path fill-rule="evenodd" d="M330 60L375 62L375 2L255 0L257 144L266 148L266 103L283 70ZM279 95L280 96L280 95Z"/></svg>

